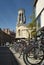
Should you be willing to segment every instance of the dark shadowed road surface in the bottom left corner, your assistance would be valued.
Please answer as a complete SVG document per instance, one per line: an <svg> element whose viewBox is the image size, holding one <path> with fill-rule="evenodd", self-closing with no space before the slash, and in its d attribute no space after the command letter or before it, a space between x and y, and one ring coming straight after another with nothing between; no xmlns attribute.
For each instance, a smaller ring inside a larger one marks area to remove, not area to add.
<svg viewBox="0 0 44 65"><path fill-rule="evenodd" d="M0 47L0 65L20 65L8 47Z"/></svg>

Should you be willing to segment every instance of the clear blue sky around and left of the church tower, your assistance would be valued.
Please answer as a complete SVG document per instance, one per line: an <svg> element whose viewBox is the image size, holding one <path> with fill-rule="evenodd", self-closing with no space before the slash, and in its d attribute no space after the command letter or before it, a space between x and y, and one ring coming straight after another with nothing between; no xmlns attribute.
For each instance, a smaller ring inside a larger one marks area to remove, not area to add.
<svg viewBox="0 0 44 65"><path fill-rule="evenodd" d="M33 10L33 0L0 0L0 28L9 28L16 30L18 10L25 9L26 23Z"/></svg>

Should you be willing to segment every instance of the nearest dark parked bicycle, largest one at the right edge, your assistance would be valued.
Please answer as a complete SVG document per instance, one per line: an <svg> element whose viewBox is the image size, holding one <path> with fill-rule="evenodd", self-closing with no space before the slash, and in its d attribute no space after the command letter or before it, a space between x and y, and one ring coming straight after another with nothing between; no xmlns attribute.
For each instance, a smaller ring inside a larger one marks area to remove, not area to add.
<svg viewBox="0 0 44 65"><path fill-rule="evenodd" d="M27 46L23 53L23 60L26 65L38 65L44 59L44 27L37 31L32 44Z"/></svg>

